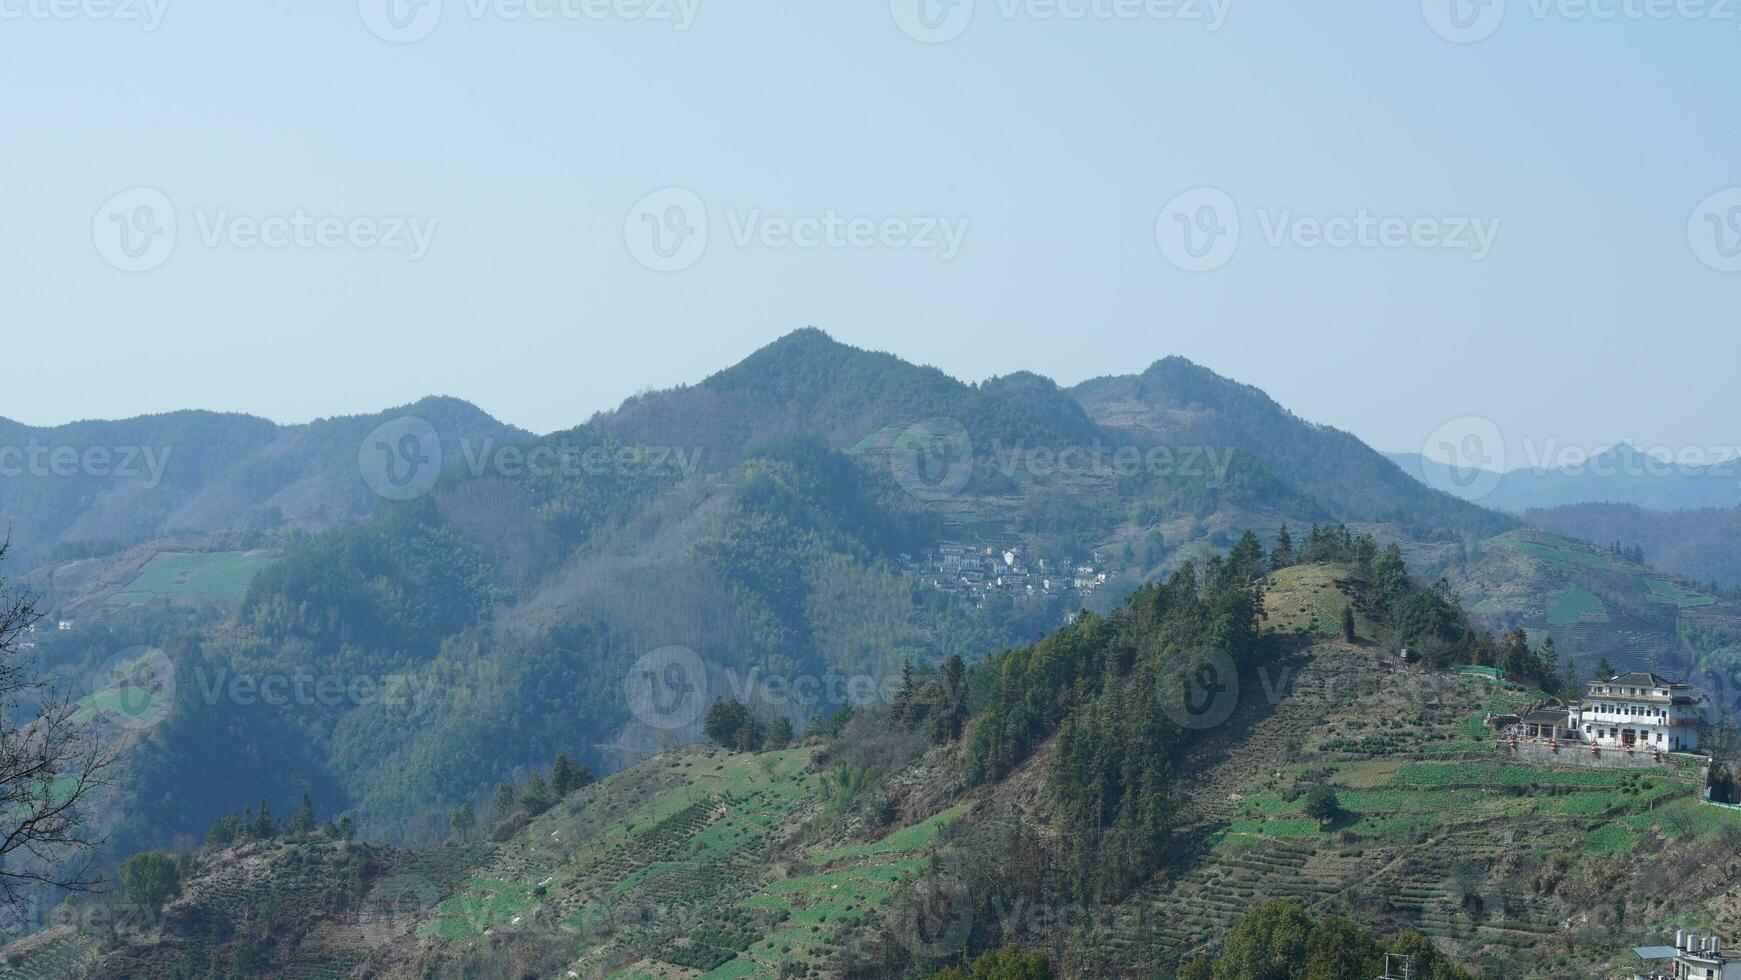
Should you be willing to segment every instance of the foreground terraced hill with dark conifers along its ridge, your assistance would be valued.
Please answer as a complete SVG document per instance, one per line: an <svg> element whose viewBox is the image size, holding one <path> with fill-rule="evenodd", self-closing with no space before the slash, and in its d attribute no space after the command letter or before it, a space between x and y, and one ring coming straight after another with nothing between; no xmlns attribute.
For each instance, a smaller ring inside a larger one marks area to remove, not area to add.
<svg viewBox="0 0 1741 980"><path fill-rule="evenodd" d="M1438 980L1607 977L1666 910L1724 921L1738 823L1696 773L1496 759L1483 715L1537 693L1402 663L1422 627L1398 613L1422 602L1382 557L1175 576L796 743L674 748L561 794L521 780L440 846L225 822L164 888L73 905L0 961L717 980L931 977L1018 949L1057 977L1172 977L1321 926L1313 956L1348 961L1325 977L1382 952ZM1213 663L1187 653L1212 637ZM1210 665L1213 686L1172 684ZM1307 816L1325 790L1335 813Z"/></svg>

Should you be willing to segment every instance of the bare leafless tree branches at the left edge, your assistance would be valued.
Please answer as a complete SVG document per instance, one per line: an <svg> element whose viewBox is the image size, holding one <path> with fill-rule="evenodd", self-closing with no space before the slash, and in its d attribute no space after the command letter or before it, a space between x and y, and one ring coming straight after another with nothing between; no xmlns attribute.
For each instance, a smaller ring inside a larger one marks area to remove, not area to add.
<svg viewBox="0 0 1741 980"><path fill-rule="evenodd" d="M0 562L10 541L0 543ZM37 601L0 578L0 907L19 910L42 886L91 891L87 809L111 785L117 755L77 719L77 705L35 675L21 637Z"/></svg>

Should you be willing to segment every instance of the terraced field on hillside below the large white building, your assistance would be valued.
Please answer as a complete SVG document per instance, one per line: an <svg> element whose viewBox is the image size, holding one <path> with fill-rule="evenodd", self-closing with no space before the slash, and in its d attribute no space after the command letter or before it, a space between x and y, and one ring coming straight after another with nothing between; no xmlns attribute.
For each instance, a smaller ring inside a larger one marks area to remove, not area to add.
<svg viewBox="0 0 1741 980"><path fill-rule="evenodd" d="M1563 931L1577 909L1520 869L1565 855L1576 870L1741 827L1697 802L1691 773L1508 764L1482 717L1530 693L1499 681L1422 675L1341 642L1281 668L1288 695L1250 705L1224 754L1205 747L1187 808L1205 815L1187 832L1194 856L1106 923L1132 970L1212 949L1252 903L1292 898L1419 930L1471 963L1502 954L1544 977L1584 975ZM1327 823L1304 815L1302 790L1320 782L1342 808Z"/></svg>

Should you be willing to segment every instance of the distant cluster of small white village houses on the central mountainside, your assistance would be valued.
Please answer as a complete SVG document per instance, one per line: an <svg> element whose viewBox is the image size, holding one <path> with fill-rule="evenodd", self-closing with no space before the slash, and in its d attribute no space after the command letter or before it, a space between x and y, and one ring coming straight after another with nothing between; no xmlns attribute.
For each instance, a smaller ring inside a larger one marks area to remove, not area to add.
<svg viewBox="0 0 1741 980"><path fill-rule="evenodd" d="M1064 559L1029 562L1022 545L973 547L944 541L918 557L900 555L902 567L928 580L938 592L975 606L992 595L1008 595L1017 606L1052 595L1088 599L1107 581L1106 557L1093 552L1086 562Z"/></svg>

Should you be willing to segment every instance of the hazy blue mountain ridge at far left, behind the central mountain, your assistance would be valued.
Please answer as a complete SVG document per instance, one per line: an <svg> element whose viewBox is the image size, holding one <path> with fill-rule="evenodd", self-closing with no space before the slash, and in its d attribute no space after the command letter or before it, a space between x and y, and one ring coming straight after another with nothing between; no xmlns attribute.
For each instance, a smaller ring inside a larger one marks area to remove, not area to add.
<svg viewBox="0 0 1741 980"><path fill-rule="evenodd" d="M200 411L50 428L0 420L12 557L33 564L56 548L80 555L165 533L355 520L381 501L359 465L364 439L406 416L439 435L447 460L463 444L529 437L456 399L308 425Z"/></svg>

